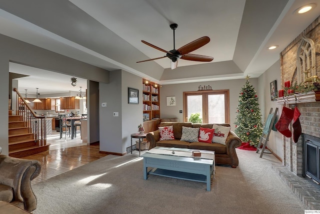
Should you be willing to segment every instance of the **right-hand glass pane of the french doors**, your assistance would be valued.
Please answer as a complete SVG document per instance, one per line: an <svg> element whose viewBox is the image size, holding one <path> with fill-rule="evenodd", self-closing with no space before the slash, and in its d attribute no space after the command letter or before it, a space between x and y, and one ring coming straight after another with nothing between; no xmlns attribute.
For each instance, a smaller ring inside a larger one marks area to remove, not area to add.
<svg viewBox="0 0 320 214"><path fill-rule="evenodd" d="M208 94L208 123L225 123L224 94Z"/></svg>

